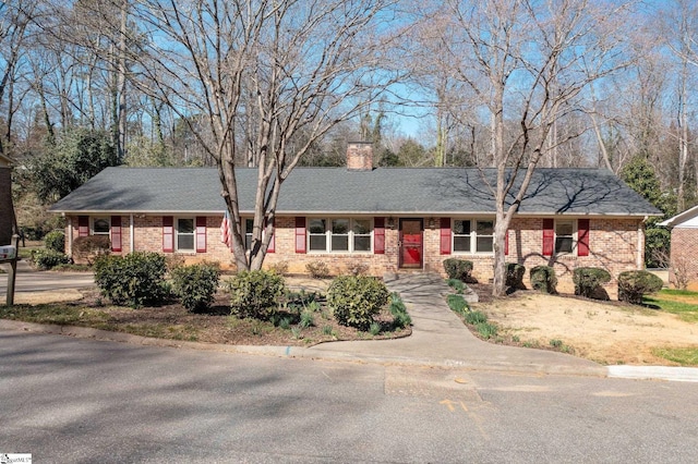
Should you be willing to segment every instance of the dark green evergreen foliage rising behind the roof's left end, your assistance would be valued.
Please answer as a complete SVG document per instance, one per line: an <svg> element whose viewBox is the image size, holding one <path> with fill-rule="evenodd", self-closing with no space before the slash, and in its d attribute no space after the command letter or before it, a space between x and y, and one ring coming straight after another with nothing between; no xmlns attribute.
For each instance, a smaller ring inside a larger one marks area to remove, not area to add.
<svg viewBox="0 0 698 464"><path fill-rule="evenodd" d="M107 131L72 129L56 147L46 150L34 167L32 178L44 203L63 197L103 169L118 166L119 157Z"/></svg>

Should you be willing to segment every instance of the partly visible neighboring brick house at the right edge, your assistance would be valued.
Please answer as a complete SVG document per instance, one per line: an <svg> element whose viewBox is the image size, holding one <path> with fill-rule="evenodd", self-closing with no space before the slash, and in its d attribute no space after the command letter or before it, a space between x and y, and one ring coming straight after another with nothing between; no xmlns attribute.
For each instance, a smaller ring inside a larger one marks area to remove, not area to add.
<svg viewBox="0 0 698 464"><path fill-rule="evenodd" d="M690 290L698 290L698 206L659 225L672 231L670 282L674 286L686 284Z"/></svg>

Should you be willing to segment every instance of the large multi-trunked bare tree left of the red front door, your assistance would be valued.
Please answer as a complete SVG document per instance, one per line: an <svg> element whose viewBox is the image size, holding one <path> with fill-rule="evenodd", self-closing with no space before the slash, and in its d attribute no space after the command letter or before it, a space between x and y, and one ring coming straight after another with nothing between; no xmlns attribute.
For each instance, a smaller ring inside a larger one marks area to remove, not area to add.
<svg viewBox="0 0 698 464"><path fill-rule="evenodd" d="M120 0L119 0L120 1ZM148 40L129 60L136 85L215 160L232 216L238 269L258 269L284 181L338 122L396 78L381 72L393 0L134 0ZM257 168L252 249L244 248L236 162Z"/></svg>

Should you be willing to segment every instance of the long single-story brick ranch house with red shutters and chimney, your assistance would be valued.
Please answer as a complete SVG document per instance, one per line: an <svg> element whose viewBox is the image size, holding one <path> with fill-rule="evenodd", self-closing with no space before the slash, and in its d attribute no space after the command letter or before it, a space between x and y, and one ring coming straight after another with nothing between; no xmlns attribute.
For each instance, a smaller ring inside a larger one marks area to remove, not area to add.
<svg viewBox="0 0 698 464"><path fill-rule="evenodd" d="M290 273L324 261L335 273L361 265L374 276L437 271L472 260L493 277L494 170L372 167L370 144L350 144L346 168L297 168L281 187L265 266ZM240 209L251 231L256 169L237 169ZM56 203L75 237L109 234L112 252L161 252L188 261L231 265L220 242L225 203L207 168L108 168ZM643 221L660 212L606 170L538 169L509 228L507 260L554 266L562 291L571 271L593 266L612 276L641 269ZM528 279L528 277L527 277ZM607 291L615 294L613 284Z"/></svg>

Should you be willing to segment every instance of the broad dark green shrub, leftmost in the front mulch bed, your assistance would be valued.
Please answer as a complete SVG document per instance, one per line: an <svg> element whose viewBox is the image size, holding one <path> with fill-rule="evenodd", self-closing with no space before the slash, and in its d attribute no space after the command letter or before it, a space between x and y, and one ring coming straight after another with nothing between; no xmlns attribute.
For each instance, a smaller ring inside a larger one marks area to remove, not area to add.
<svg viewBox="0 0 698 464"><path fill-rule="evenodd" d="M137 308L169 296L165 270L165 257L158 253L103 255L95 260L95 283L113 304Z"/></svg>

